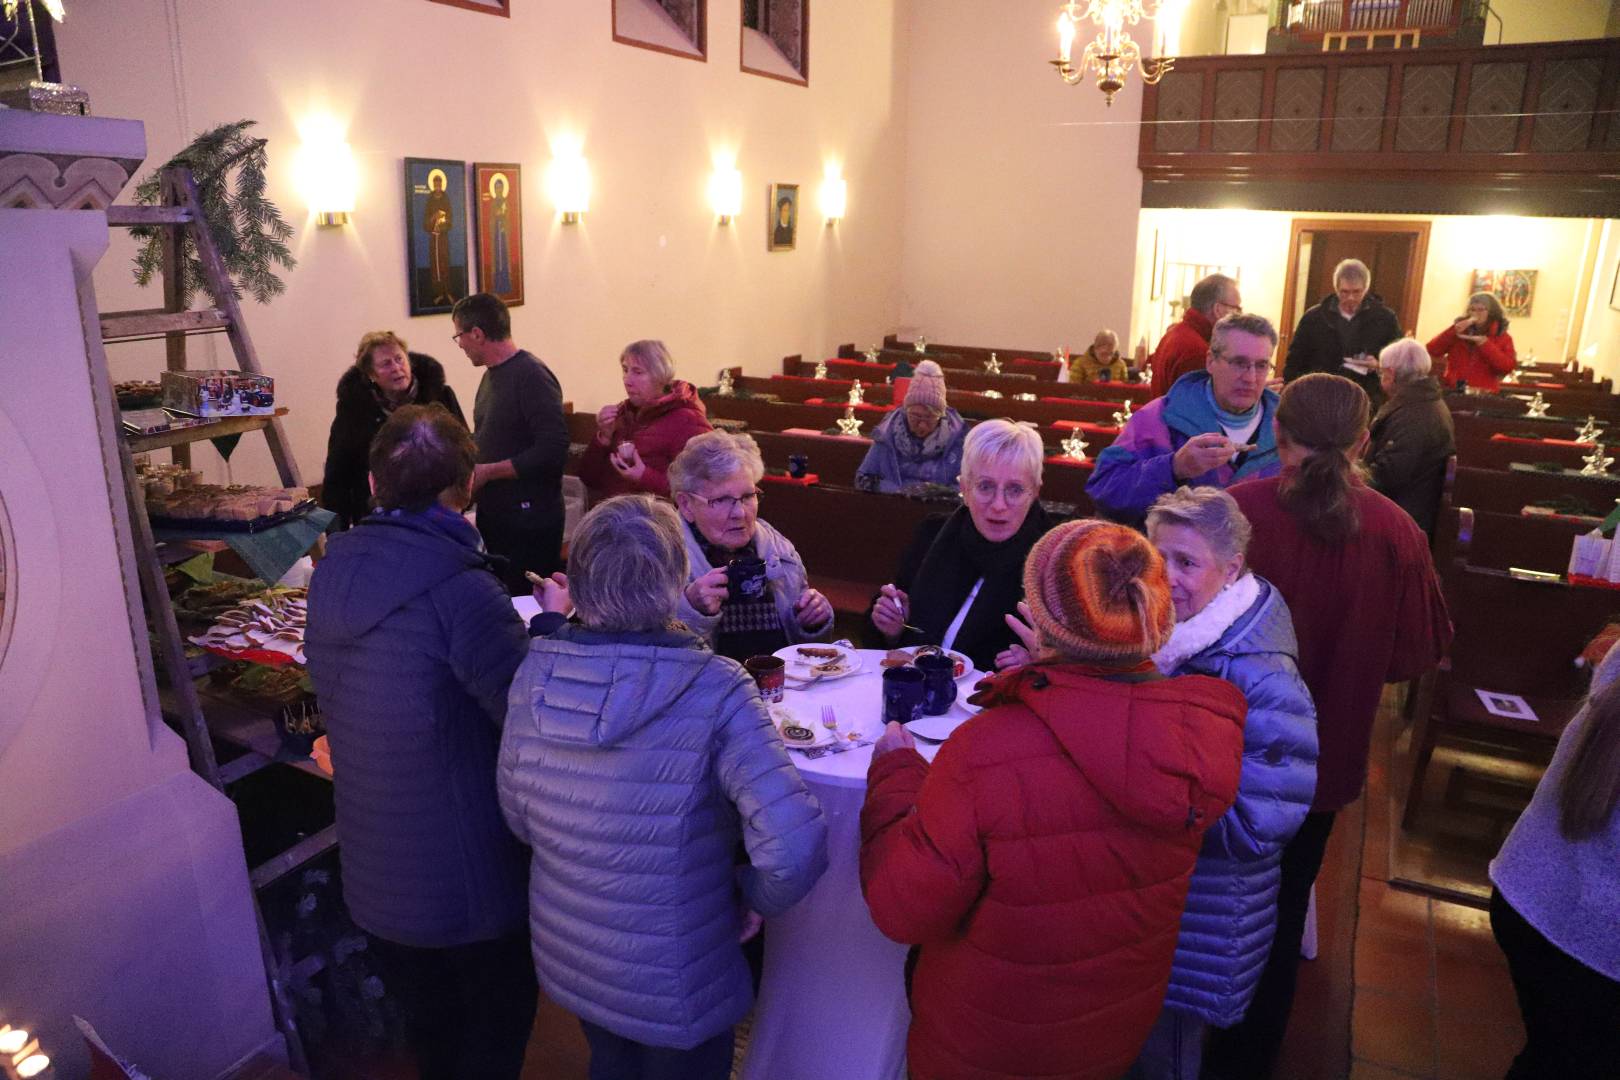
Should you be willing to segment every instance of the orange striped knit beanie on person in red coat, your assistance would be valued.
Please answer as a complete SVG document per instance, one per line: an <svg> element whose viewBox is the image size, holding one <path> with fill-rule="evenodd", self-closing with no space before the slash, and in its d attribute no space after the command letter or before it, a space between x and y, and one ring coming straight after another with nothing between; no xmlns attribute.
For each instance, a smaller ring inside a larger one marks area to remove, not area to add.
<svg viewBox="0 0 1620 1080"><path fill-rule="evenodd" d="M1176 622L1165 560L1140 533L1097 518L1035 541L1024 597L1042 640L1071 659L1144 661Z"/></svg>

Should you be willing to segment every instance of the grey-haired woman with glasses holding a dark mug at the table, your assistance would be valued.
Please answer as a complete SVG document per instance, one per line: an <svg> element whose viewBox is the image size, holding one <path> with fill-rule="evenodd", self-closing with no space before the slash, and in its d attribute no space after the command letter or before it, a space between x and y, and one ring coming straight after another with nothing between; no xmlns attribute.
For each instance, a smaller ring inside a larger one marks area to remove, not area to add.
<svg viewBox="0 0 1620 1080"><path fill-rule="evenodd" d="M748 436L710 431L669 465L692 563L679 619L721 656L745 661L833 627L792 541L760 520L765 461Z"/></svg>

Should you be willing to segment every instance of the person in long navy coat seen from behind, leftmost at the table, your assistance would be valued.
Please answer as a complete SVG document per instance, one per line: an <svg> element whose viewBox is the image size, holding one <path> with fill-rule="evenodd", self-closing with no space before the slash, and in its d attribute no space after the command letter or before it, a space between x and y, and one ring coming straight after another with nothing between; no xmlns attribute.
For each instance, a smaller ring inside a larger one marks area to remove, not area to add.
<svg viewBox="0 0 1620 1080"><path fill-rule="evenodd" d="M496 756L528 635L462 517L475 457L441 408L382 424L377 512L316 567L305 653L332 743L343 899L421 1077L515 1080L538 991Z"/></svg>

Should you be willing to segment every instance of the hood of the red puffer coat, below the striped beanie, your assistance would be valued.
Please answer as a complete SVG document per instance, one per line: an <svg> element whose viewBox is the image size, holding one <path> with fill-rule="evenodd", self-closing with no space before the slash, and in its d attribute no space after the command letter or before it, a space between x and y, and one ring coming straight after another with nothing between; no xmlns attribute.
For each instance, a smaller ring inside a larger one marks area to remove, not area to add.
<svg viewBox="0 0 1620 1080"><path fill-rule="evenodd" d="M1243 693L1207 675L1126 682L1094 670L1022 667L993 680L988 704L1034 712L1098 797L1131 821L1179 832L1226 813L1243 766Z"/></svg>

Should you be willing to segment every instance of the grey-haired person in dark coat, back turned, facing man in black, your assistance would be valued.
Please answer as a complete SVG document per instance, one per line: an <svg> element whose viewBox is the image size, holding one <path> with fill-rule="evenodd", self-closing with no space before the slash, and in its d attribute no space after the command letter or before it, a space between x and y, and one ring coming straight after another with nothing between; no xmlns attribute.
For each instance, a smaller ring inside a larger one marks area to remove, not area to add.
<svg viewBox="0 0 1620 1080"><path fill-rule="evenodd" d="M1379 353L1385 402L1372 418L1367 481L1411 515L1426 534L1445 487L1445 461L1456 453L1452 410L1429 376L1429 350L1405 337Z"/></svg>

